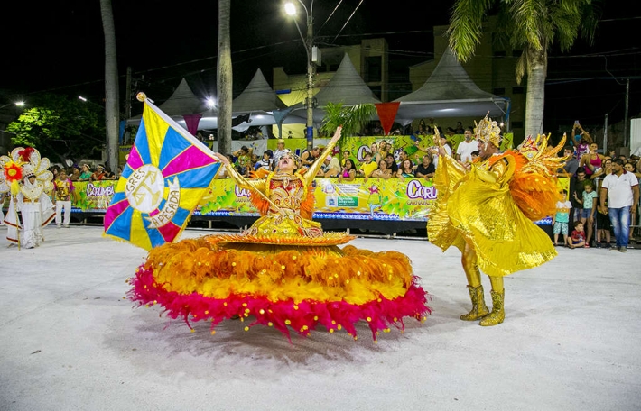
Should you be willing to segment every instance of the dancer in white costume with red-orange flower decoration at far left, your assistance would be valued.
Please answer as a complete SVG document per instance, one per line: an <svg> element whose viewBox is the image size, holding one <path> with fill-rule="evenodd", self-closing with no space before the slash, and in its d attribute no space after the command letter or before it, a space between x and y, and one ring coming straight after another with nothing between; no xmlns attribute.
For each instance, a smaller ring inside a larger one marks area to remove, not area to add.
<svg viewBox="0 0 641 411"><path fill-rule="evenodd" d="M12 194L5 216L6 239L9 245L37 247L44 241L42 227L50 224L54 217L53 204L48 195L53 187L49 160L41 158L40 152L32 147L17 147L10 157L0 157L0 165L5 175L0 188L8 186ZM19 211L22 224L18 218Z"/></svg>

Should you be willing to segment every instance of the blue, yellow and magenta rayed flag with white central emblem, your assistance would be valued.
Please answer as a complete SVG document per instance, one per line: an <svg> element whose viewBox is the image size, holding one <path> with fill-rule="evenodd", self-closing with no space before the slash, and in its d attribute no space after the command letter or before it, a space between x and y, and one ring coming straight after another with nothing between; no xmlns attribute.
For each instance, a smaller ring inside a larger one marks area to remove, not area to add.
<svg viewBox="0 0 641 411"><path fill-rule="evenodd" d="M145 250L172 242L220 163L141 93L143 120L105 214L105 234Z"/></svg>

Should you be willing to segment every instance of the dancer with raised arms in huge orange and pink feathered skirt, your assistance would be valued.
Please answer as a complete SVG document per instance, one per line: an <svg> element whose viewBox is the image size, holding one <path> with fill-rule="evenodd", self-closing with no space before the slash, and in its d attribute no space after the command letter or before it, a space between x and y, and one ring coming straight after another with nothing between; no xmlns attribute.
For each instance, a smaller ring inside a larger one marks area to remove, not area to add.
<svg viewBox="0 0 641 411"><path fill-rule="evenodd" d="M288 338L290 329L307 335L321 325L330 333L344 328L356 339L362 320L376 341L391 325L403 329L405 316L423 321L430 313L427 293L407 256L341 249L354 237L323 232L311 220L313 178L339 137L340 129L304 172L288 151L265 178L246 179L217 154L238 187L250 190L262 216L244 233L154 248L130 279L129 297L159 304L187 324L210 321L212 333L224 319L251 315L249 326L274 326Z"/></svg>

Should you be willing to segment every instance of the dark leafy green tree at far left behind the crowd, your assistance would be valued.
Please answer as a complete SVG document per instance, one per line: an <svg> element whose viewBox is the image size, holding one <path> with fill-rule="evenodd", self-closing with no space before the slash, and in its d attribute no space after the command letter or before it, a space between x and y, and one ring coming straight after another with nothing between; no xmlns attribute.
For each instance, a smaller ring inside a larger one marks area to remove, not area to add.
<svg viewBox="0 0 641 411"><path fill-rule="evenodd" d="M105 144L105 110L101 105L60 95L37 96L31 107L10 123L15 146L30 146L57 162L93 157Z"/></svg>

